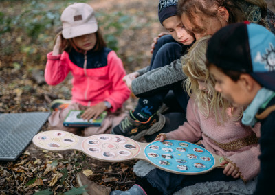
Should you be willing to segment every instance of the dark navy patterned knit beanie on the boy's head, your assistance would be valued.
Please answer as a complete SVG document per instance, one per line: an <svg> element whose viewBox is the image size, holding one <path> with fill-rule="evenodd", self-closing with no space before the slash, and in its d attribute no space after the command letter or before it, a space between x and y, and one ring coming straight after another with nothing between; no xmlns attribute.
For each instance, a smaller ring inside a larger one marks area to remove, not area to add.
<svg viewBox="0 0 275 195"><path fill-rule="evenodd" d="M177 0L160 0L159 1L159 22L177 15Z"/></svg>

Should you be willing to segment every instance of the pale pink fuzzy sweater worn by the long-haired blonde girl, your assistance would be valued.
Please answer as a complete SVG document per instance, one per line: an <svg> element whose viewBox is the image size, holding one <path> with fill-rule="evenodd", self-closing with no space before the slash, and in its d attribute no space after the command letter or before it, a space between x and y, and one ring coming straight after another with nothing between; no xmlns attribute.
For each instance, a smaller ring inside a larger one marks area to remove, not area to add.
<svg viewBox="0 0 275 195"><path fill-rule="evenodd" d="M227 113L231 115L231 108ZM235 108L234 113L238 113ZM166 134L166 139L178 139L188 142L197 142L212 152L225 157L241 173L241 179L253 179L260 170L260 154L258 139L260 137L260 124L254 128L244 126L241 120L229 119L220 126L214 117L206 118L199 112L195 101L191 97L187 106L187 122ZM233 115L234 115L233 113Z"/></svg>

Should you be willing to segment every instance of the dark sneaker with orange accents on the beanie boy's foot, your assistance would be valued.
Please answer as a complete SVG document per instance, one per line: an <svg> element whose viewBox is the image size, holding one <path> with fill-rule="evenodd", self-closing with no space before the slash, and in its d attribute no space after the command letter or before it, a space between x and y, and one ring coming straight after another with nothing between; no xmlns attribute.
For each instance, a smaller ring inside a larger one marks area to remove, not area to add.
<svg viewBox="0 0 275 195"><path fill-rule="evenodd" d="M111 130L111 133L123 135L137 141L144 135L152 135L161 130L165 124L164 115L159 113L155 113L146 122L134 120L130 115L133 115L132 111L130 111L129 116L124 118L120 124Z"/></svg>

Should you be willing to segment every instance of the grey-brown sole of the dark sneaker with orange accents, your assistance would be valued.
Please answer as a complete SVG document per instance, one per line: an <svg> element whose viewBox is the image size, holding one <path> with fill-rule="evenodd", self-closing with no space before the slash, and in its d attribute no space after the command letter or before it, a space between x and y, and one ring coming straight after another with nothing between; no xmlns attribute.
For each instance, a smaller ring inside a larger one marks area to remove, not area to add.
<svg viewBox="0 0 275 195"><path fill-rule="evenodd" d="M153 124L151 128L142 130L140 133L137 133L137 135L129 136L129 138L138 141L142 136L144 135L152 135L154 133L157 133L159 130L162 130L166 122L166 119L164 115L159 115L159 121Z"/></svg>

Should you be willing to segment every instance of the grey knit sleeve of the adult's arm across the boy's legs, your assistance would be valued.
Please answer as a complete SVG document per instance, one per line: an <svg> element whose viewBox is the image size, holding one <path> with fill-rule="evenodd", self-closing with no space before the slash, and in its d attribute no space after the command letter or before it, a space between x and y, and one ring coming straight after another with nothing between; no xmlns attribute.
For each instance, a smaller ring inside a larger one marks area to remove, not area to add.
<svg viewBox="0 0 275 195"><path fill-rule="evenodd" d="M137 97L152 95L170 84L182 82L185 78L181 60L178 59L170 65L153 69L135 78L132 82L132 91Z"/></svg>

